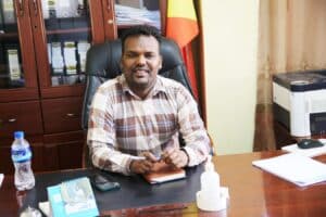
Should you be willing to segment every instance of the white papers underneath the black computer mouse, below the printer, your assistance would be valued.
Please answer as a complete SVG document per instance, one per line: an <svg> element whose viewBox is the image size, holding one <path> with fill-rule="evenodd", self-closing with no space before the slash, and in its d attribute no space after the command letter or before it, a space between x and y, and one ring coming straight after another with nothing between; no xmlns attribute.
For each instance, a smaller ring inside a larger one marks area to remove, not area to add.
<svg viewBox="0 0 326 217"><path fill-rule="evenodd" d="M283 146L281 150L286 152L301 154L309 157L314 157L314 156L326 154L326 144L325 144L326 139L319 139L319 141L324 143L324 146L312 148L312 149L300 149L298 144L290 144L287 146Z"/></svg>

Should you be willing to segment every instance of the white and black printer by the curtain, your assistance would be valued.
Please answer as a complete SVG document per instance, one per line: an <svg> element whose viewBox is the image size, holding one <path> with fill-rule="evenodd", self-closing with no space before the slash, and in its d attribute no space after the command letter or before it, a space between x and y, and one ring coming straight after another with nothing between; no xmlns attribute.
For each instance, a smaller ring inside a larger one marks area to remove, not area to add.
<svg viewBox="0 0 326 217"><path fill-rule="evenodd" d="M273 76L274 118L293 137L326 132L326 69Z"/></svg>

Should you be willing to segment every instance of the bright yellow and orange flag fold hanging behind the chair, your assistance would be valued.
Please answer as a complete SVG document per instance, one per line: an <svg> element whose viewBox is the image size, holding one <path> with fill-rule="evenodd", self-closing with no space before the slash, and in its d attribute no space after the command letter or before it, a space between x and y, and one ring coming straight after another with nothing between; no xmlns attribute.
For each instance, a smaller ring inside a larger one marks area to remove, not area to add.
<svg viewBox="0 0 326 217"><path fill-rule="evenodd" d="M166 37L174 39L180 48L184 48L198 33L192 0L168 0Z"/></svg>

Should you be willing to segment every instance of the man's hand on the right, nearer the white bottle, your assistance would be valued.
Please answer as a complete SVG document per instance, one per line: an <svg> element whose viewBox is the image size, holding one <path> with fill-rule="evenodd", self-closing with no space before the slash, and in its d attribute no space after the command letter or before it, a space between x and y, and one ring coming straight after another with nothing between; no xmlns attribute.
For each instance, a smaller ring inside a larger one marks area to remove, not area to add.
<svg viewBox="0 0 326 217"><path fill-rule="evenodd" d="M166 149L162 154L162 159L177 168L187 166L189 161L186 152L178 148Z"/></svg>

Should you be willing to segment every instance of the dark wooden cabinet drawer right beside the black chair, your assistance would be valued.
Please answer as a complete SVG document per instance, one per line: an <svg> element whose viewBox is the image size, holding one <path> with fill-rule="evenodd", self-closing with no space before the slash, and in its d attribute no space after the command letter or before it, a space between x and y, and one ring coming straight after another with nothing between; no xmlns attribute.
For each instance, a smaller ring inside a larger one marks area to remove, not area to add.
<svg viewBox="0 0 326 217"><path fill-rule="evenodd" d="M82 129L83 98L43 100L41 104L46 133Z"/></svg>

